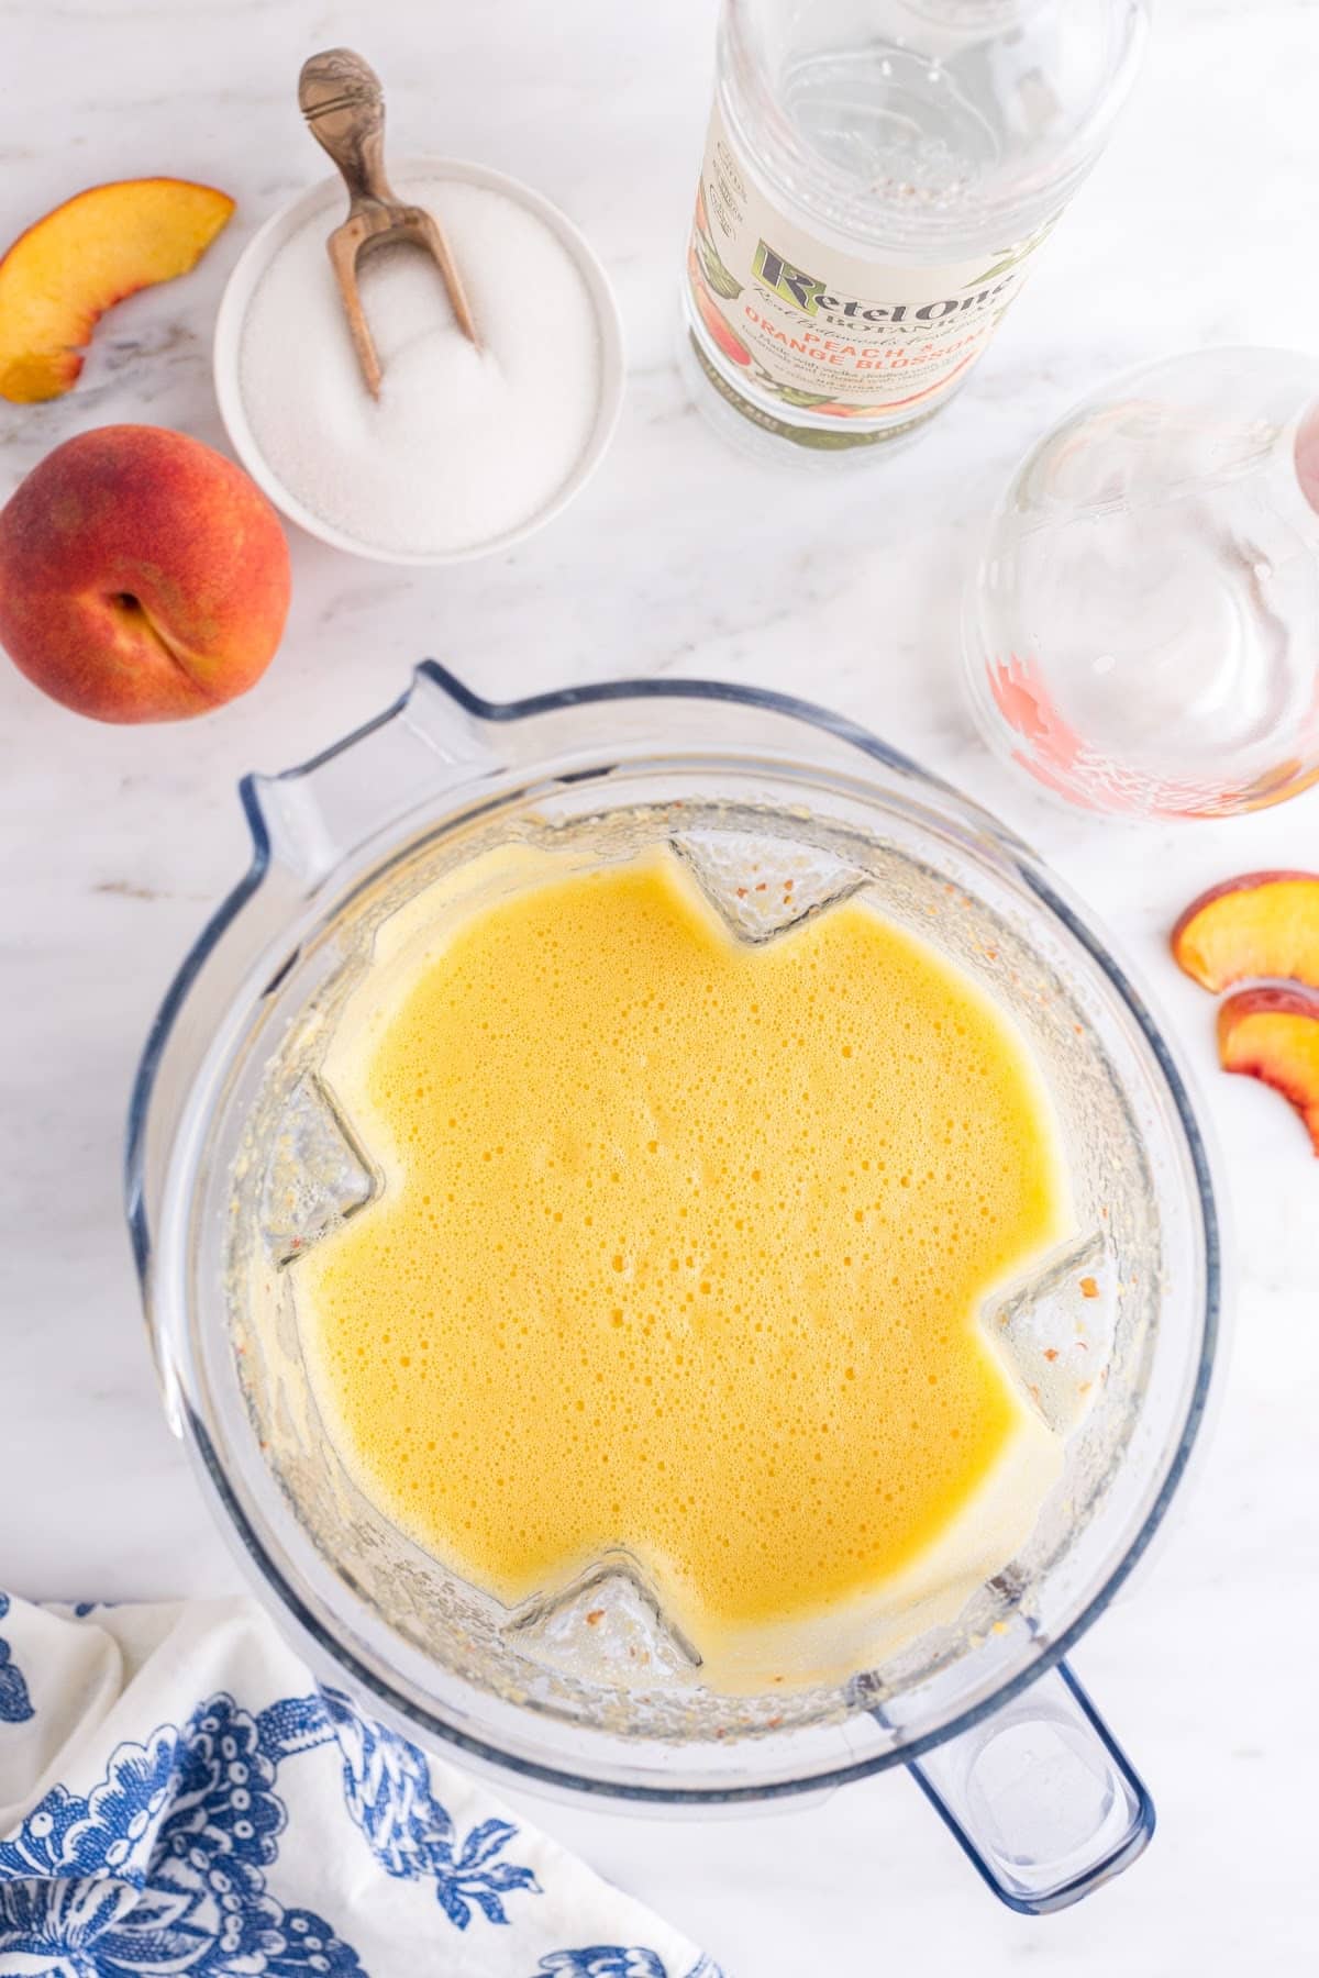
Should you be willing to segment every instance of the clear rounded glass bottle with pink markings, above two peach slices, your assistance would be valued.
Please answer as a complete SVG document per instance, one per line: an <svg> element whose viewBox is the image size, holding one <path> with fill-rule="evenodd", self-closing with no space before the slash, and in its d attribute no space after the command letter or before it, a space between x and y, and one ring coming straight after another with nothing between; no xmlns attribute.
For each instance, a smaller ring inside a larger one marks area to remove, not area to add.
<svg viewBox="0 0 1319 1978"><path fill-rule="evenodd" d="M991 744L1092 811L1228 817L1319 779L1319 360L1192 350L1026 455L967 584Z"/></svg>

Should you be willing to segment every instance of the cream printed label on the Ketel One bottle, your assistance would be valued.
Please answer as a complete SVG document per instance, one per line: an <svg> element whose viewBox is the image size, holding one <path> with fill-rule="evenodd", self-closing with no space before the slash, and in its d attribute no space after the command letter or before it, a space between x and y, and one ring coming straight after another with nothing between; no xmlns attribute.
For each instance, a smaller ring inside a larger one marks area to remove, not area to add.
<svg viewBox="0 0 1319 1978"><path fill-rule="evenodd" d="M916 417L981 356L1050 225L941 267L860 261L759 192L716 103L686 271L712 342L787 417Z"/></svg>

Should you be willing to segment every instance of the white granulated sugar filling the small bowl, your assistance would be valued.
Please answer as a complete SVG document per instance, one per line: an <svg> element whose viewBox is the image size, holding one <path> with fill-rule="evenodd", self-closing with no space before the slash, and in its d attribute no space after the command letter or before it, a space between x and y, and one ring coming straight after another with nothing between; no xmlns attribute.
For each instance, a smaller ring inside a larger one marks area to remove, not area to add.
<svg viewBox="0 0 1319 1978"><path fill-rule="evenodd" d="M520 528L560 493L595 427L601 332L570 247L516 198L441 178L397 190L449 235L481 348L421 249L364 255L384 364L372 400L324 245L336 204L261 277L239 388L267 467L305 508L364 546L443 556Z"/></svg>

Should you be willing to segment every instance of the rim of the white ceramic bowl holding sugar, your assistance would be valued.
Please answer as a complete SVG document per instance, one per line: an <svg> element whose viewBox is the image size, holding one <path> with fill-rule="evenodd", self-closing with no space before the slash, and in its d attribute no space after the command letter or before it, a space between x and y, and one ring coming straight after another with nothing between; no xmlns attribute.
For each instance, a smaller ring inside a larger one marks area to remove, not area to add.
<svg viewBox="0 0 1319 1978"><path fill-rule="evenodd" d="M243 320L247 316L247 309L251 307L251 299L257 293L257 285L279 249L316 214L324 214L326 235L346 216L348 196L338 176L322 178L318 184L301 194L301 198L297 198L291 206L273 214L243 249L237 267L229 275L220 301L220 315L216 316L216 398L220 400L220 417L223 419L233 451L251 479L265 494L269 494L275 506L287 514L291 522L297 522L299 528L305 528L308 536L318 536L320 542L328 542L334 550L346 550L350 556L366 556L376 564L421 564L427 568L435 568L439 564L469 564L477 556L494 556L498 550L508 550L514 542L522 542L526 536L534 534L548 520L552 520L552 516L566 508L573 494L577 494L577 491L583 489L595 473L609 441L613 439L613 429L619 421L619 409L623 405L623 322L619 318L619 305L615 303L609 277L605 275L605 269L593 249L587 245L572 220L568 220L558 206L552 206L550 200L542 198L540 192L532 192L530 186L524 186L516 178L508 178L504 172L492 172L484 164L469 164L461 158L403 158L392 164L392 172L401 184L413 176L431 176L453 178L469 186L486 186L490 192L502 192L506 198L524 206L546 227L550 227L552 233L558 235L585 281L587 295L591 297L591 305L595 309L595 322L599 326L599 402L595 407L591 437L577 459L577 465L564 479L552 500L548 500L542 508L536 508L536 512L524 522L518 522L516 528L508 528L498 536L488 536L484 542L467 544L461 550L390 550L376 542L360 542L356 536L348 536L344 530L334 528L332 522L322 520L322 516L308 508L299 494L275 475L257 445L257 437L243 405L239 386Z"/></svg>

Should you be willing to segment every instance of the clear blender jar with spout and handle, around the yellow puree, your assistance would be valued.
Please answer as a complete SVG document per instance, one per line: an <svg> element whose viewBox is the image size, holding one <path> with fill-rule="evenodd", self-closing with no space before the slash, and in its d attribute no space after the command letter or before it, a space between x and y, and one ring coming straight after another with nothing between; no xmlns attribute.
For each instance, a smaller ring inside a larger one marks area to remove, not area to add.
<svg viewBox="0 0 1319 1978"><path fill-rule="evenodd" d="M253 864L150 1033L129 1222L170 1422L312 1665L477 1768L657 1808L908 1764L991 1887L1030 1913L1135 1859L1149 1796L1062 1656L1185 1470L1218 1234L1181 1072L1088 918L1024 845L876 738L714 682L488 704L425 665L376 722L241 795ZM985 1313L1066 1438L1032 1537L953 1626L793 1691L706 1689L625 1555L516 1612L457 1580L354 1487L299 1341L299 1258L380 1187L320 1076L380 930L427 890L435 924L471 912L510 845L570 872L657 843L740 940L860 894L1007 1003L1050 1088L1076 1209L1066 1250ZM775 908L736 896L747 849L793 876L765 890Z"/></svg>

